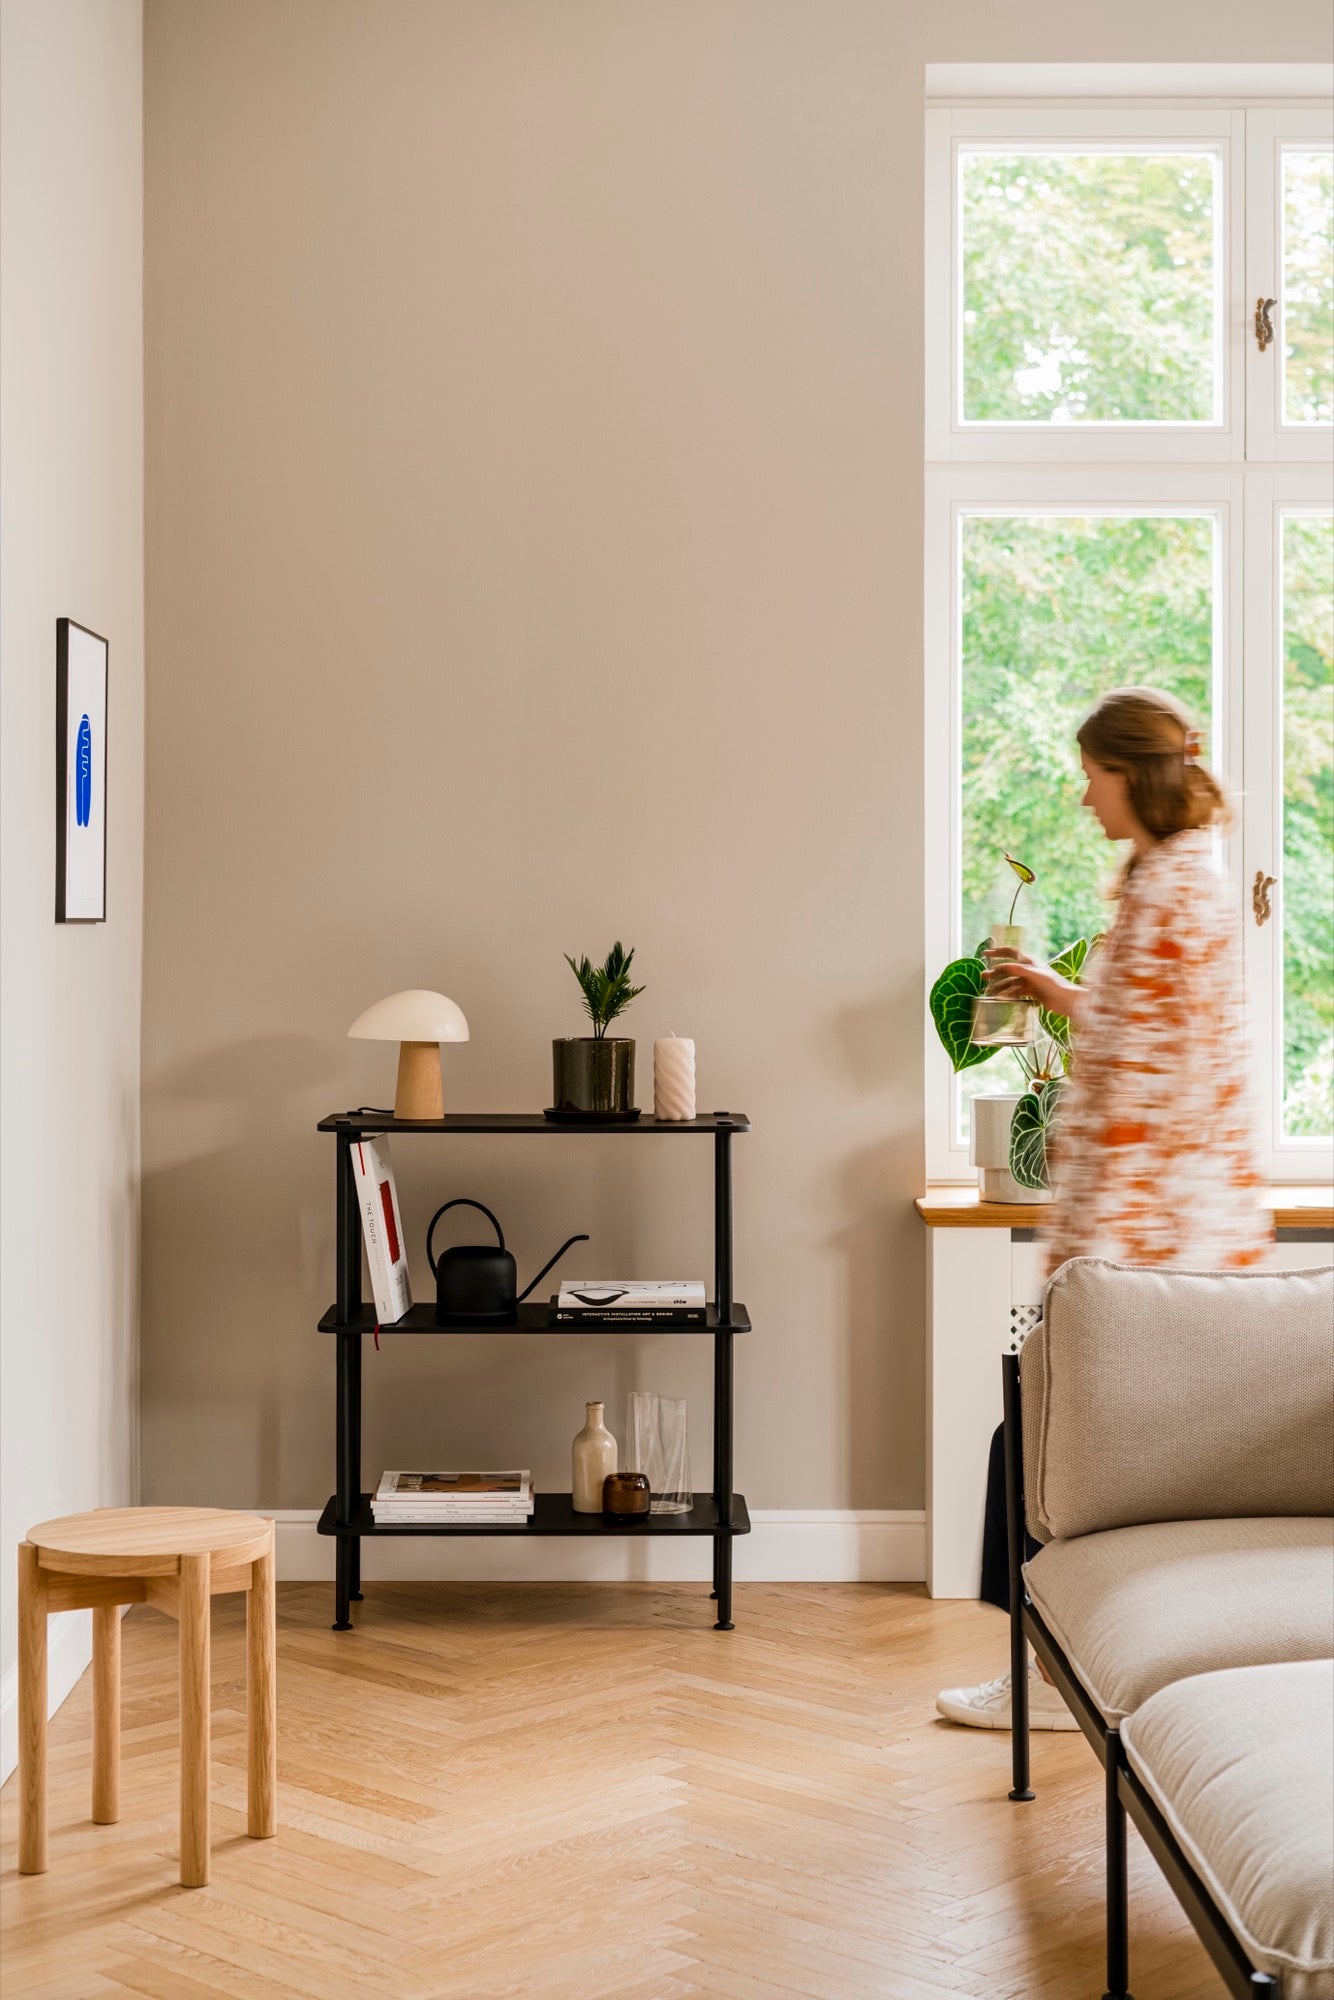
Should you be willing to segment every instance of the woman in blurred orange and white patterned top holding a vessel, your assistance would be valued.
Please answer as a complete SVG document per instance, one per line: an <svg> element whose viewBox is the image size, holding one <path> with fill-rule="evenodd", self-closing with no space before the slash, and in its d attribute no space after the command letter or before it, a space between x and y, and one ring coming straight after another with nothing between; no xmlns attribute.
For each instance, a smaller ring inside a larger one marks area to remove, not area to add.
<svg viewBox="0 0 1334 2000"><path fill-rule="evenodd" d="M1116 918L1082 986L1030 958L988 954L988 988L1028 998L1074 1028L1054 1144L1048 1274L1072 1256L1184 1270L1264 1264L1274 1240L1260 1202L1242 1022L1234 894L1212 860L1226 818L1186 710L1154 688L1118 688L1076 732L1084 804L1108 840L1128 840ZM1008 1608L1002 1432L992 1440L982 1598ZM974 1728L1010 1726L1010 1676L946 1688L936 1708ZM1032 1728L1074 1728L1034 1680Z"/></svg>

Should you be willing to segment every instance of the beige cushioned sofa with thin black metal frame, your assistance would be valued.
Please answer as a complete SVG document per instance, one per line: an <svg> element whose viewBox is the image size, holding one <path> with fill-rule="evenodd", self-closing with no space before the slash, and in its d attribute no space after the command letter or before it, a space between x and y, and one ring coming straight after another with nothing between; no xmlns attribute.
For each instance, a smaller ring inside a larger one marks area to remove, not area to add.
<svg viewBox="0 0 1334 2000"><path fill-rule="evenodd" d="M1032 1644L1104 1766L1104 2000L1126 1818L1228 1992L1334 2000L1334 1268L1074 1258L1004 1398L1010 1798Z"/></svg>

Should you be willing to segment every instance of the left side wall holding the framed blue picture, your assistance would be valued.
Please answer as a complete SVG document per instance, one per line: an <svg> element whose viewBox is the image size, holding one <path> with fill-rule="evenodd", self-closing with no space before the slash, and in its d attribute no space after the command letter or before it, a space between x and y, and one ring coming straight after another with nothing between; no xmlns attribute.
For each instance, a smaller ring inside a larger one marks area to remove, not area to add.
<svg viewBox="0 0 1334 2000"><path fill-rule="evenodd" d="M144 858L140 0L0 8L0 1708L14 1544L134 1498ZM58 926L56 618L110 640L108 922ZM86 1624L86 1614L78 1614ZM68 1668L74 1654L60 1654Z"/></svg>

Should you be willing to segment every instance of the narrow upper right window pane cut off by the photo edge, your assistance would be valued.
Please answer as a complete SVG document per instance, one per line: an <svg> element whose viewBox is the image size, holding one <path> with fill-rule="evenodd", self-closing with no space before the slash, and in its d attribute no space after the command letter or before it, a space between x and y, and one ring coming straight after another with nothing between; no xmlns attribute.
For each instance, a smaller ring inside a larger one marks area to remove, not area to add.
<svg viewBox="0 0 1334 2000"><path fill-rule="evenodd" d="M1334 152L1284 152L1284 418L1334 422Z"/></svg>

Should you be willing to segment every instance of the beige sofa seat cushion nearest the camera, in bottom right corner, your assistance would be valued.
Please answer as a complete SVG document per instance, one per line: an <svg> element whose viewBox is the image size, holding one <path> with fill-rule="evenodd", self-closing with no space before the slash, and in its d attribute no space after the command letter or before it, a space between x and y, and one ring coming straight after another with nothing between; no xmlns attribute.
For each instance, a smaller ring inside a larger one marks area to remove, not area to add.
<svg viewBox="0 0 1334 2000"><path fill-rule="evenodd" d="M1178 1680L1122 1738L1256 1970L1334 2000L1334 1660Z"/></svg>

